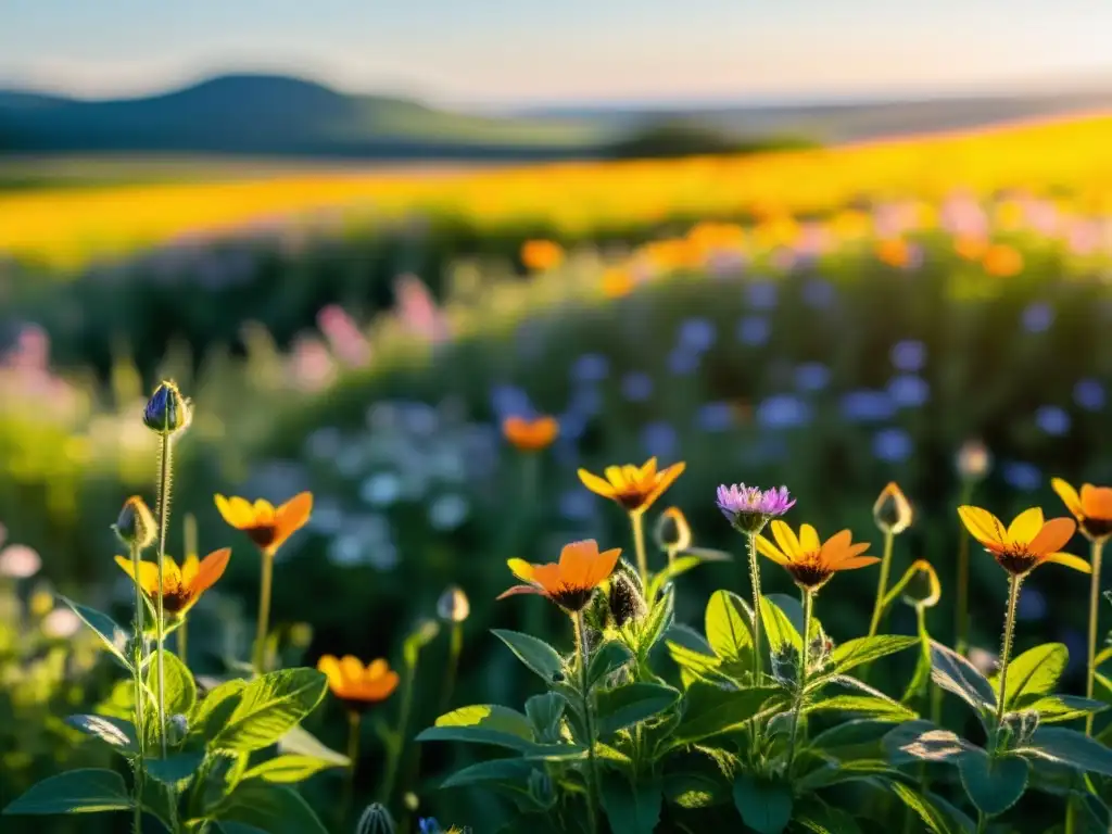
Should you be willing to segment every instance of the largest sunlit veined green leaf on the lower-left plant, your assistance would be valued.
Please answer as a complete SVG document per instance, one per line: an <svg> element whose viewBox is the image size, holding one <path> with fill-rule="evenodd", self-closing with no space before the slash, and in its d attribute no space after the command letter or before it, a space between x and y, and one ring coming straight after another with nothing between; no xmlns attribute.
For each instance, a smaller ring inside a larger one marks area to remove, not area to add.
<svg viewBox="0 0 1112 834"><path fill-rule="evenodd" d="M309 668L257 677L239 693L239 703L212 746L241 752L270 746L317 707L326 686L325 675Z"/></svg>

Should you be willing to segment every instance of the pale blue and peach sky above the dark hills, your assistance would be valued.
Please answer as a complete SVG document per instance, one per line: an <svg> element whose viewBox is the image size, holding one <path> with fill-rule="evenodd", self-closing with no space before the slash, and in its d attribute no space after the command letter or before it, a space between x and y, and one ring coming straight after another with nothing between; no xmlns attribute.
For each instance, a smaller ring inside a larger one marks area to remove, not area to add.
<svg viewBox="0 0 1112 834"><path fill-rule="evenodd" d="M1112 80L1112 0L0 0L0 88L229 71L460 103L932 95Z"/></svg>

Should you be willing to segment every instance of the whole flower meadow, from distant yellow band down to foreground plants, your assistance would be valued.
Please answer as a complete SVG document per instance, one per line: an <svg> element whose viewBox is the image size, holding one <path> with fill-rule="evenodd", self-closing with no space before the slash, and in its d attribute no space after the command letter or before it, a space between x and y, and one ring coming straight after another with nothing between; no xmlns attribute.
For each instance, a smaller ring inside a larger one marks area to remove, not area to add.
<svg viewBox="0 0 1112 834"><path fill-rule="evenodd" d="M1109 831L1109 147L0 195L0 828Z"/></svg>

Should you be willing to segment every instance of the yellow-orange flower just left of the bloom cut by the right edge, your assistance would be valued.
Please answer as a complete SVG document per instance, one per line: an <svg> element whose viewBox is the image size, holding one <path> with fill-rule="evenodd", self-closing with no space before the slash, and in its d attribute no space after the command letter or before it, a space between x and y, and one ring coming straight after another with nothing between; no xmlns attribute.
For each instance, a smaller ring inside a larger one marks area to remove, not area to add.
<svg viewBox="0 0 1112 834"><path fill-rule="evenodd" d="M1043 519L1037 507L1025 509L1007 527L992 513L969 505L957 508L965 528L997 564L1013 576L1025 576L1044 562L1056 562L1083 574L1089 563L1060 548L1073 537L1078 525L1072 518Z"/></svg>

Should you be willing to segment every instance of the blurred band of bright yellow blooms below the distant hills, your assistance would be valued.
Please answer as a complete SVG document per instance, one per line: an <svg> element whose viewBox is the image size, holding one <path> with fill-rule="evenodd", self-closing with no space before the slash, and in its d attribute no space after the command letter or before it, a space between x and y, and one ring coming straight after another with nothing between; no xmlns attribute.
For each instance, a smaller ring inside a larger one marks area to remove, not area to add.
<svg viewBox="0 0 1112 834"><path fill-rule="evenodd" d="M56 269L182 236L315 212L427 210L478 226L522 219L568 235L674 217L827 212L857 198L1020 187L1112 206L1112 116L745 157L443 172L276 175L0 193L0 252Z"/></svg>

